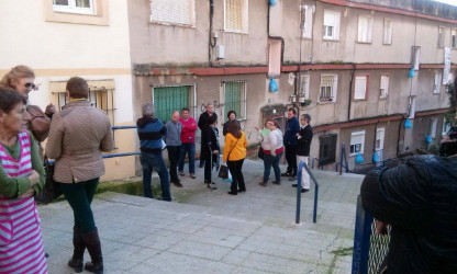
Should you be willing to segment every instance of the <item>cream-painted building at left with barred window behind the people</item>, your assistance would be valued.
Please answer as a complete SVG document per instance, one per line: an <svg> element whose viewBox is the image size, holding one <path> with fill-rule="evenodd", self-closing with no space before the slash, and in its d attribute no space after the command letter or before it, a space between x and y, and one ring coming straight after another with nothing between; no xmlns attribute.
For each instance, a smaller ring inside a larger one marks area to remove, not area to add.
<svg viewBox="0 0 457 274"><path fill-rule="evenodd" d="M0 1L0 76L16 65L35 70L37 91L30 101L41 107L65 103L65 84L80 76L90 101L112 125L133 125L132 71L126 1ZM135 149L134 130L115 130L113 152ZM135 157L105 160L102 180L135 174Z"/></svg>

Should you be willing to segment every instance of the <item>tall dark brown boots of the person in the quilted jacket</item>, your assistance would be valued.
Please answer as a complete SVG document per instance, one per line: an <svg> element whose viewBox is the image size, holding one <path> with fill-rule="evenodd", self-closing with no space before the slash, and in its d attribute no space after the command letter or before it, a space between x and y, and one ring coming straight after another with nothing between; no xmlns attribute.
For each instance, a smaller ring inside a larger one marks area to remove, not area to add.
<svg viewBox="0 0 457 274"><path fill-rule="evenodd" d="M103 274L103 258L101 254L101 246L99 232L96 230L82 233L78 228L74 228L73 235L74 254L68 266L75 269L77 273L82 272L82 256L85 249L89 251L91 262L86 263L85 270L96 274Z"/></svg>

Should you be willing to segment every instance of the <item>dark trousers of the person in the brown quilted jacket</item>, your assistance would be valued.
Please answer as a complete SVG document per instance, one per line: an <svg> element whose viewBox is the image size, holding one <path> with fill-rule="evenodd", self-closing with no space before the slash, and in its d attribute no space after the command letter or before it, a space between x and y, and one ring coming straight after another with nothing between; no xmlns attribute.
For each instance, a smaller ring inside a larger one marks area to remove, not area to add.
<svg viewBox="0 0 457 274"><path fill-rule="evenodd" d="M93 219L90 204L92 203L93 195L96 194L99 178L79 183L59 184L65 198L71 206L75 217L75 227L79 228L82 233L96 230L96 221Z"/></svg>

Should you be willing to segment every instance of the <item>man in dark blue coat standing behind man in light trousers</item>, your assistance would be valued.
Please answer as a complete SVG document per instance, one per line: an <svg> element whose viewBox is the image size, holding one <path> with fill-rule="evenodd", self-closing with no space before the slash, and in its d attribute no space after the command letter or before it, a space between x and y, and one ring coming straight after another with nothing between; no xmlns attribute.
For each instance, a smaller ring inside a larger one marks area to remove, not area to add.
<svg viewBox="0 0 457 274"><path fill-rule="evenodd" d="M300 123L296 115L296 109L290 107L287 113L286 132L283 138L286 148L287 171L281 174L282 176L291 176L292 179L297 175L296 135L300 129Z"/></svg>

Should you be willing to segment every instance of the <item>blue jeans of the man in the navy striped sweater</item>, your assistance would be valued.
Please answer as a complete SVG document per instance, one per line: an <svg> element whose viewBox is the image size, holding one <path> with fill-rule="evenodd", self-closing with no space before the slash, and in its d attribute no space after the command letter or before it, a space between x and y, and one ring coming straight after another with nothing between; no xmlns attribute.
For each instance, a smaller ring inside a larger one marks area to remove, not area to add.
<svg viewBox="0 0 457 274"><path fill-rule="evenodd" d="M151 189L151 181L153 170L156 170L160 178L161 199L171 201L170 195L170 182L168 180L167 167L165 167L164 158L160 155L154 155L151 152L142 151L140 161L143 167L143 192L145 197L153 197L153 191Z"/></svg>

